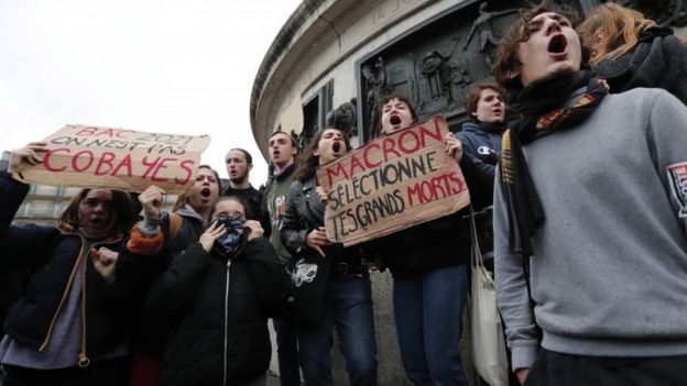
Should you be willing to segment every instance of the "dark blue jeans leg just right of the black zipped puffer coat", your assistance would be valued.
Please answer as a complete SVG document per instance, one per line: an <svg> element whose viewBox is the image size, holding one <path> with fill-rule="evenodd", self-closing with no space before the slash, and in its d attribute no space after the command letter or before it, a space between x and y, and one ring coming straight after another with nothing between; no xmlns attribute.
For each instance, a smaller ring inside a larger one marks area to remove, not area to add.
<svg viewBox="0 0 687 386"><path fill-rule="evenodd" d="M301 386L296 323L287 318L272 319L276 331L276 353L282 386Z"/></svg>

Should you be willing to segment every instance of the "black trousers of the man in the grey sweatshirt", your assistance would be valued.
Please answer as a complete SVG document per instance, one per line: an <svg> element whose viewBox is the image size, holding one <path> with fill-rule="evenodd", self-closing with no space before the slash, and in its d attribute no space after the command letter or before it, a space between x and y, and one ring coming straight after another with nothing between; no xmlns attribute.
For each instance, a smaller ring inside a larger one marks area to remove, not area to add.
<svg viewBox="0 0 687 386"><path fill-rule="evenodd" d="M687 385L687 355L607 357L560 354L539 349L525 386Z"/></svg>

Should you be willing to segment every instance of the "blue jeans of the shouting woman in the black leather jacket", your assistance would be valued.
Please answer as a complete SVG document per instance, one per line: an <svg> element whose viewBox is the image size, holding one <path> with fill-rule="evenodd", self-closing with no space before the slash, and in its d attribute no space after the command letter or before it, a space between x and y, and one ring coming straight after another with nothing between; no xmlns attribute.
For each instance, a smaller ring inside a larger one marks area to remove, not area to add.
<svg viewBox="0 0 687 386"><path fill-rule="evenodd" d="M306 386L331 385L331 330L336 327L351 386L377 385L377 341L369 275L331 278L325 320L298 328L298 351Z"/></svg>

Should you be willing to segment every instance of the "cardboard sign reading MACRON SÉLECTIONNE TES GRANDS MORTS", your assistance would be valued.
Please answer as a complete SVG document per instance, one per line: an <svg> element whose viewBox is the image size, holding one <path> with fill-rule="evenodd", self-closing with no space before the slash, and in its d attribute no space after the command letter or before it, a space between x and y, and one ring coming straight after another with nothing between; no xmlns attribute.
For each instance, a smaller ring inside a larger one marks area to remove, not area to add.
<svg viewBox="0 0 687 386"><path fill-rule="evenodd" d="M447 133L444 118L434 117L320 166L327 238L353 245L469 205L462 172L445 151Z"/></svg>

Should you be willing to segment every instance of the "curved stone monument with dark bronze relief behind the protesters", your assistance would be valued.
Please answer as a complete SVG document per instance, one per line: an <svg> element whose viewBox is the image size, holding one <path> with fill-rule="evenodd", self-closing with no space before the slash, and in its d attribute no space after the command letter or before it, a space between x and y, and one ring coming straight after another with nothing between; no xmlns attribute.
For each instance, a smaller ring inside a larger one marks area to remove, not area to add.
<svg viewBox="0 0 687 386"><path fill-rule="evenodd" d="M557 1L585 15L598 0ZM687 2L619 3L686 36ZM308 137L336 122L353 143L377 136L379 99L413 99L421 117L467 120L466 93L490 77L493 51L521 8L510 0L304 0L266 53L253 84L253 136L266 158L277 129ZM303 141L304 142L304 141Z"/></svg>

